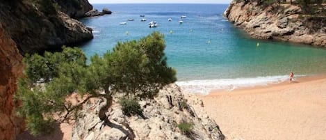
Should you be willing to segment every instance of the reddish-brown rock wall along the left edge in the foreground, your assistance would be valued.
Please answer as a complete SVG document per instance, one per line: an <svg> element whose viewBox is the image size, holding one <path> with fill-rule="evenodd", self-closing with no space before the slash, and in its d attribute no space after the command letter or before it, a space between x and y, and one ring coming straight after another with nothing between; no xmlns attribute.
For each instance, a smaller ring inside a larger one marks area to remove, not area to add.
<svg viewBox="0 0 326 140"><path fill-rule="evenodd" d="M0 24L0 139L15 139L24 123L15 116L13 95L17 90L17 78L22 73L22 56L15 42Z"/></svg>

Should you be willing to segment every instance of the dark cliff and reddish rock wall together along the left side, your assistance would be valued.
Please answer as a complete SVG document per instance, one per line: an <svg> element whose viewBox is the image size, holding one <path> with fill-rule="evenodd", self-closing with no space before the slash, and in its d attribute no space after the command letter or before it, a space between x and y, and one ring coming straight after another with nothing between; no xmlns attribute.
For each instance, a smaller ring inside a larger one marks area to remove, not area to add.
<svg viewBox="0 0 326 140"><path fill-rule="evenodd" d="M0 139L16 139L16 134L24 130L24 122L15 115L15 107L21 102L13 101L17 79L22 74L22 54L43 52L93 38L90 29L71 18L85 14L92 6L87 0L71 3L59 0L0 1Z"/></svg>

